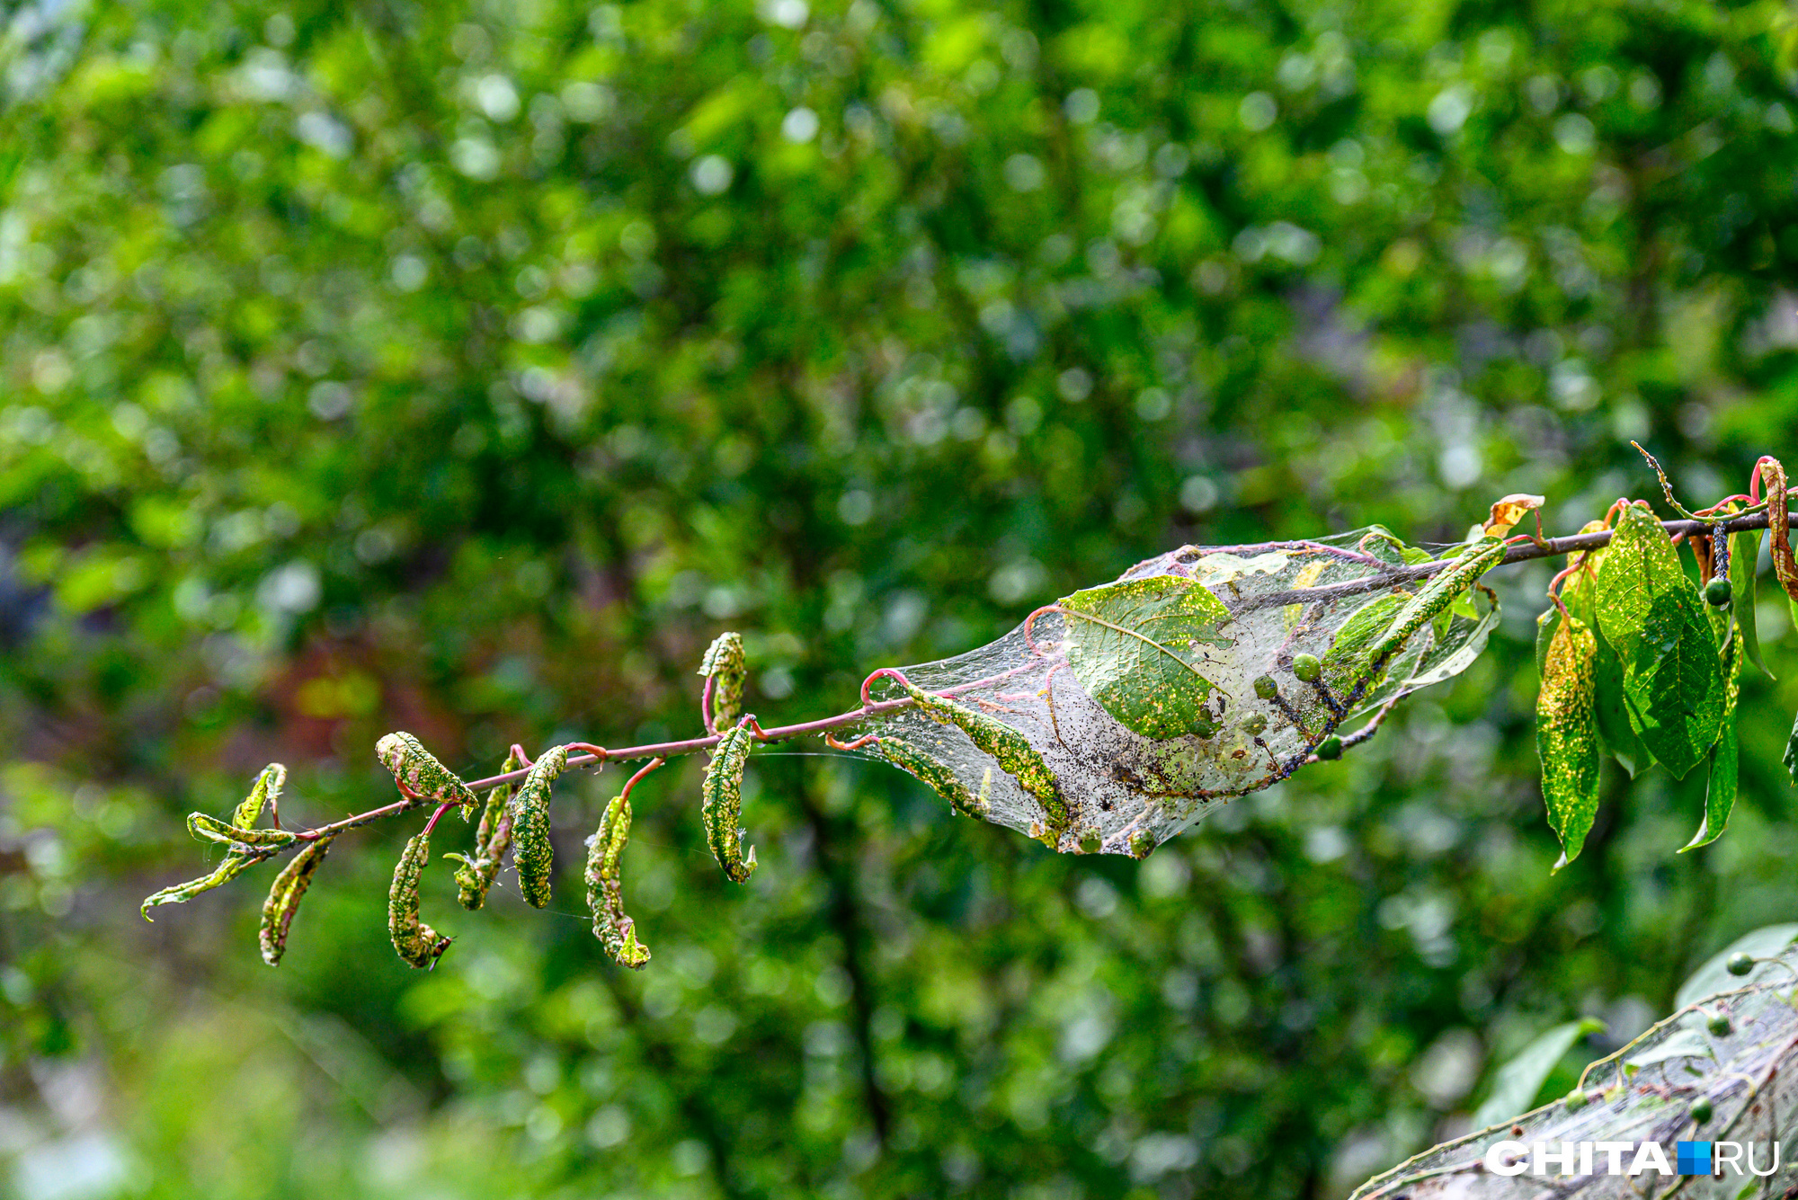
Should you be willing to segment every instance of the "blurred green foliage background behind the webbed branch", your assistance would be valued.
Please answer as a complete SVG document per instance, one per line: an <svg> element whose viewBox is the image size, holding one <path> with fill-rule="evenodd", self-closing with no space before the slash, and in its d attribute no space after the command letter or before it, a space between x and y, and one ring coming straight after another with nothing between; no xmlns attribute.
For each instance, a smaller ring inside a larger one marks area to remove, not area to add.
<svg viewBox="0 0 1798 1200"><path fill-rule="evenodd" d="M1550 1024L1636 1033L1798 916L1776 591L1692 855L1703 772L1607 776L1550 875L1535 562L1464 677L1140 864L770 753L741 889L694 762L636 792L642 974L568 869L617 772L559 790L548 913L432 869L432 974L383 927L412 821L279 972L271 868L137 904L268 760L309 823L392 796L396 728L476 774L687 735L719 629L798 720L1183 541L1458 541L1514 490L1564 534L1660 503L1629 438L1740 489L1798 419L1793 22L7 5L0 1189L1336 1196Z"/></svg>

